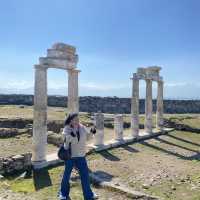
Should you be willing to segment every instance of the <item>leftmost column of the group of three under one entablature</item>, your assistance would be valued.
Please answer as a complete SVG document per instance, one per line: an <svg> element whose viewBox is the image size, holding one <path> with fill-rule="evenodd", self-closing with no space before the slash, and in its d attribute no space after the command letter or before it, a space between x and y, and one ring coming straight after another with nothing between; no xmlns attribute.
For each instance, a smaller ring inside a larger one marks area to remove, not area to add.
<svg viewBox="0 0 200 200"><path fill-rule="evenodd" d="M131 129L132 136L139 134L139 79L137 74L133 74L132 99L131 99Z"/></svg>

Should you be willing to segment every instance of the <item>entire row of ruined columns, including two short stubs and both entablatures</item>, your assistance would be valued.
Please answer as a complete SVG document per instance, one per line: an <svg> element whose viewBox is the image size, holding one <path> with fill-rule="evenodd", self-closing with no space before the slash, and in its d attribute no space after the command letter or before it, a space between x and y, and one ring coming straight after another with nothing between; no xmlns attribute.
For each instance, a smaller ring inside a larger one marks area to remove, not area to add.
<svg viewBox="0 0 200 200"><path fill-rule="evenodd" d="M39 64L35 65L35 95L34 95L34 121L33 121L33 147L32 163L34 168L41 168L47 165L46 157L47 144L47 69L58 68L68 72L68 110L69 112L79 112L78 97L78 56L76 49L63 43L56 43L52 49L47 50L47 57L39 59ZM103 150L117 147L127 142L137 141L141 138L139 134L139 80L146 81L146 102L145 102L145 132L147 137L151 137L152 132L152 82L158 83L157 93L157 128L163 130L163 79L159 75L160 67L138 68L133 74L133 89L131 100L131 128L132 134L129 137L123 136L123 115L115 115L114 131L115 138L104 141L104 114L96 113L94 123L97 132L94 135L94 143L90 144L90 150ZM159 132L157 132L159 133ZM146 137L145 136L145 137ZM54 157L51 159L55 160ZM51 161L49 161L51 162Z"/></svg>

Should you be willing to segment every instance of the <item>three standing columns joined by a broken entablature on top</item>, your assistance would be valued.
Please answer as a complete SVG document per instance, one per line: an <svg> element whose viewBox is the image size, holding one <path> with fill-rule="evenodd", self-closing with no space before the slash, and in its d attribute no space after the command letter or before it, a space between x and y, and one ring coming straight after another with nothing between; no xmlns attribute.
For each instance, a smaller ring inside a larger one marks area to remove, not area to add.
<svg viewBox="0 0 200 200"><path fill-rule="evenodd" d="M145 101L145 131L152 132L152 82L158 83L157 91L157 112L156 126L162 129L163 126L163 78L159 75L160 67L138 68L133 74L132 101L131 101L131 128L132 136L139 134L139 81L146 81L146 101Z"/></svg>

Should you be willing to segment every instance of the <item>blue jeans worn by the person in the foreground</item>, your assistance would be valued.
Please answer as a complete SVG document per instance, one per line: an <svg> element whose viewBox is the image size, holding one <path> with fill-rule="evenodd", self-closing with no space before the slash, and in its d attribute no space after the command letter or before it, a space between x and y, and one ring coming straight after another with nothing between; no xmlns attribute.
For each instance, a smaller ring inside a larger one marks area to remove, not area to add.
<svg viewBox="0 0 200 200"><path fill-rule="evenodd" d="M60 193L62 196L66 197L66 199L69 197L69 180L73 167L76 167L79 171L84 199L92 200L93 192L90 188L89 170L85 157L74 157L65 161L65 171L61 182Z"/></svg>

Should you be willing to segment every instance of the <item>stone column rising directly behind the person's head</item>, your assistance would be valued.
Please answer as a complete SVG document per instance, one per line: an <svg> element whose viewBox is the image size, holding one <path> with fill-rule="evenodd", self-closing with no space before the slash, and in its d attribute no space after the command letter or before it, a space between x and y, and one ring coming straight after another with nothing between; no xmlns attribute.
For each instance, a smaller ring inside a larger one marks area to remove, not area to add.
<svg viewBox="0 0 200 200"><path fill-rule="evenodd" d="M68 111L79 112L78 73L80 70L68 70Z"/></svg>

